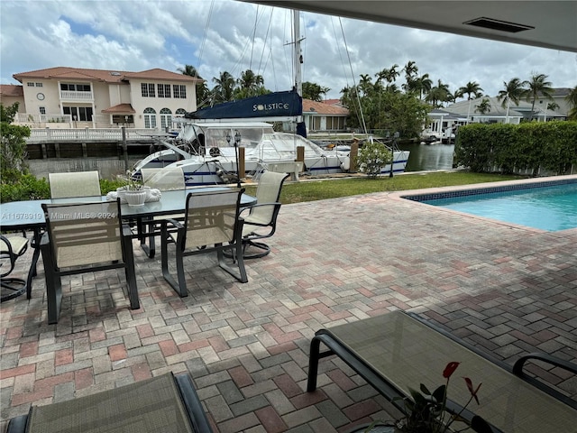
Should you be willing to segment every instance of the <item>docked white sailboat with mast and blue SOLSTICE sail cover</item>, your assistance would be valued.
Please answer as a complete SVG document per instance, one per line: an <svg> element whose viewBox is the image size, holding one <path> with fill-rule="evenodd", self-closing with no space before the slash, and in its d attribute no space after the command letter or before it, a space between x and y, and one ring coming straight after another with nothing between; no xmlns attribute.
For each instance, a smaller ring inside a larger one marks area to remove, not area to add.
<svg viewBox="0 0 577 433"><path fill-rule="evenodd" d="M293 14L294 34L298 35L299 12L293 11ZM138 177L143 168L179 167L187 186L238 182L239 148L243 148L244 170L252 176L258 176L264 170L301 170L311 175L351 170L349 149L341 146L325 149L306 137L301 97L302 56L300 40L295 39L296 84L293 89L187 113L179 119L181 127L177 137L160 139L161 149L138 161L133 175ZM297 134L275 132L270 122L291 124ZM392 169L388 164L382 172L404 171L408 153L393 150Z"/></svg>

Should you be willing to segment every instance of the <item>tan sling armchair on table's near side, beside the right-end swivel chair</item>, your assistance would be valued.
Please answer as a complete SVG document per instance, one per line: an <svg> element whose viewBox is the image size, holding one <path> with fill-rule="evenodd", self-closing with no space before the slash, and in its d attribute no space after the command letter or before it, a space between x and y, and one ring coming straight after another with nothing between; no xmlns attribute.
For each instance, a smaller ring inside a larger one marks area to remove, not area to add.
<svg viewBox="0 0 577 433"><path fill-rule="evenodd" d="M243 219L239 216L244 189L191 192L187 197L184 222L170 219L161 228L161 267L164 279L179 293L188 296L183 258L188 255L216 252L219 266L241 282L248 281L243 262ZM169 225L176 233L169 232ZM175 237L176 235L176 237ZM169 273L168 245L175 244L177 280ZM237 257L226 263L224 251ZM234 253L233 253L234 252Z"/></svg>

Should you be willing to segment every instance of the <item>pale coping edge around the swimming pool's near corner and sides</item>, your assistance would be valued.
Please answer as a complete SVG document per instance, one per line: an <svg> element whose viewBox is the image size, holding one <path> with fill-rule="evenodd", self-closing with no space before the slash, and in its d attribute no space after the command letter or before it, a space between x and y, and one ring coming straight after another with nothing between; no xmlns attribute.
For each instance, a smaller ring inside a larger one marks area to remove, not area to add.
<svg viewBox="0 0 577 433"><path fill-rule="evenodd" d="M397 191L389 193L389 198L403 200L407 203L414 203L416 206L426 206L430 208L435 208L439 211L452 212L453 214L458 214L463 217L470 217L481 219L483 221L489 221L494 224L499 224L500 226L509 226L519 229L525 229L527 231L536 233L548 233L551 235L558 235L567 233L573 230L577 231L577 227L568 228L566 230L558 231L548 231L530 226L521 226L515 223L509 223L507 221L500 221L498 219L493 219L490 217L480 217L465 212L460 212L457 210L449 209L446 207L438 207L430 205L421 200L432 200L435 198L453 198L453 197L463 197L471 196L477 194L488 194L494 192L504 192L504 191L514 191L521 189L530 189L537 187L551 187L555 185L564 185L577 183L577 175L564 175L564 176L548 176L544 178L531 178L522 180L499 180L496 182L485 182L485 183L475 183L471 185L458 185L451 187L437 187L437 188L427 188L427 189L410 189L405 191Z"/></svg>

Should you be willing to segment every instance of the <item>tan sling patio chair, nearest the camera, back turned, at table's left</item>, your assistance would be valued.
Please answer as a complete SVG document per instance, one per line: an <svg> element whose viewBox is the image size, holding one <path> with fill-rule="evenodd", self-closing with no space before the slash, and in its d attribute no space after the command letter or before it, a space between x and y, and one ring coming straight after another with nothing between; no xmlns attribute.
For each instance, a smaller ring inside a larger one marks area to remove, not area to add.
<svg viewBox="0 0 577 433"><path fill-rule="evenodd" d="M131 309L139 308L133 243L116 202L42 204L46 233L41 239L48 323L57 323L61 276L124 268Z"/></svg>

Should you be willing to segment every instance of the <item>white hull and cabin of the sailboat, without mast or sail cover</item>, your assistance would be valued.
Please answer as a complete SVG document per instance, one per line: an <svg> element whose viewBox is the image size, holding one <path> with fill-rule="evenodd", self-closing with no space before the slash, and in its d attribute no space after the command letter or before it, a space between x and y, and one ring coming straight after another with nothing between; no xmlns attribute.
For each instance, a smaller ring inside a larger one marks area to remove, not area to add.
<svg viewBox="0 0 577 433"><path fill-rule="evenodd" d="M350 150L323 149L298 134L277 133L271 124L194 121L182 124L179 135L158 142L164 149L153 152L135 164L133 174L142 168L181 167L187 186L235 182L237 152L244 149L244 170L256 175L262 170L287 171L297 160L298 148L304 152L302 171L326 175L350 170ZM408 151L393 152L393 172L405 170ZM390 165L382 173L389 173Z"/></svg>

